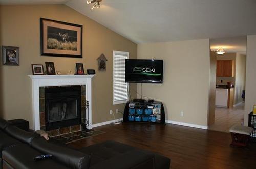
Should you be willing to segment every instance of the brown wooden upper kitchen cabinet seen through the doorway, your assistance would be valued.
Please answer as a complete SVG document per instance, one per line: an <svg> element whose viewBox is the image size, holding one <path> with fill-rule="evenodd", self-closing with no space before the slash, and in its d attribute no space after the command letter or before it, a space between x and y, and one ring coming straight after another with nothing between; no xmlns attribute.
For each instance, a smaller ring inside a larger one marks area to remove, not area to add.
<svg viewBox="0 0 256 169"><path fill-rule="evenodd" d="M234 76L234 60L217 60L217 77L233 77Z"/></svg>

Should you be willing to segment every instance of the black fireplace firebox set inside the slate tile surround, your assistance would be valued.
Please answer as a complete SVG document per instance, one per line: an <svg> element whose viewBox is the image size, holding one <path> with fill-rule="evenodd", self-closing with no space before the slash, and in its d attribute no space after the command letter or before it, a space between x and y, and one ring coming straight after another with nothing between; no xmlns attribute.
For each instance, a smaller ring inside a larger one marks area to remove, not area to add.
<svg viewBox="0 0 256 169"><path fill-rule="evenodd" d="M81 124L81 86L45 88L46 131Z"/></svg>

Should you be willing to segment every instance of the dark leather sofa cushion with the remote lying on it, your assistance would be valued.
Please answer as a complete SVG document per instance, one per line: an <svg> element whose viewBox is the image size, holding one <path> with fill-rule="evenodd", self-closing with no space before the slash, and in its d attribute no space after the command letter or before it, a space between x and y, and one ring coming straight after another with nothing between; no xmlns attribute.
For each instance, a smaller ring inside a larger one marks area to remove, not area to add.
<svg viewBox="0 0 256 169"><path fill-rule="evenodd" d="M13 168L68 168L51 158L34 161L34 157L43 154L23 143L5 149L2 154L3 161L7 163L6 165L9 164Z"/></svg>

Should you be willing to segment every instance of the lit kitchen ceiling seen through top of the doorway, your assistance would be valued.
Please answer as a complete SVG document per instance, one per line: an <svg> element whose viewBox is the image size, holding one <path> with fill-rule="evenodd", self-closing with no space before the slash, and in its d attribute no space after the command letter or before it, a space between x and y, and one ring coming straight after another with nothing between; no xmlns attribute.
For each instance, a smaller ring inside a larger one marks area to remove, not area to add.
<svg viewBox="0 0 256 169"><path fill-rule="evenodd" d="M210 39L210 49L216 51L222 47L228 53L245 53L246 41L246 36Z"/></svg>

